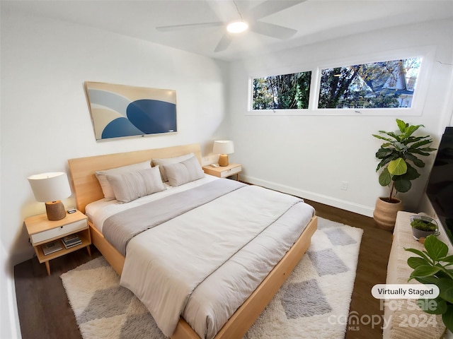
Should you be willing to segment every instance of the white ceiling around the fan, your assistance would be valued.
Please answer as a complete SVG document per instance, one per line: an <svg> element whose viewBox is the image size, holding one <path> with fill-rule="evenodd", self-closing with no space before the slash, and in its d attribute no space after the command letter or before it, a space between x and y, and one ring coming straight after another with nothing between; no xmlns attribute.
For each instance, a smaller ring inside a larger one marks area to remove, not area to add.
<svg viewBox="0 0 453 339"><path fill-rule="evenodd" d="M281 2L282 0L275 0ZM98 0L5 1L1 8L16 8L48 18L93 26L130 37L195 52L207 57L234 60L253 53L297 47L380 28L427 20L453 18L453 0L306 0L260 21L297 30L287 40L256 32L236 35L223 52L214 52L224 26L159 32L156 27L192 23L228 22L246 16L259 0ZM244 20L247 20L244 17ZM402 35L403 36L403 35Z"/></svg>

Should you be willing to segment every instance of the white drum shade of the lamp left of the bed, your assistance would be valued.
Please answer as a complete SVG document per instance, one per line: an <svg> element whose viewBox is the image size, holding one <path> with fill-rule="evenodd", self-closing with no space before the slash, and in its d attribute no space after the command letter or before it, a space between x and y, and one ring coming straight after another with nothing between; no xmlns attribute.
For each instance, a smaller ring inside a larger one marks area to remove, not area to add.
<svg viewBox="0 0 453 339"><path fill-rule="evenodd" d="M64 172L35 174L27 179L30 182L36 201L47 203L71 196L68 177Z"/></svg>

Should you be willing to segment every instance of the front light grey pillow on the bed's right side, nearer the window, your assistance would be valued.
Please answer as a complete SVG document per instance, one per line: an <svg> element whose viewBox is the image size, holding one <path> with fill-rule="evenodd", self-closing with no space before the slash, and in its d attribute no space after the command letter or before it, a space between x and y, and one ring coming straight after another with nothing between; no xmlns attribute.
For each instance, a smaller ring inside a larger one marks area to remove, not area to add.
<svg viewBox="0 0 453 339"><path fill-rule="evenodd" d="M205 172L201 169L196 157L190 157L188 160L164 167L170 186L180 186L205 177Z"/></svg>

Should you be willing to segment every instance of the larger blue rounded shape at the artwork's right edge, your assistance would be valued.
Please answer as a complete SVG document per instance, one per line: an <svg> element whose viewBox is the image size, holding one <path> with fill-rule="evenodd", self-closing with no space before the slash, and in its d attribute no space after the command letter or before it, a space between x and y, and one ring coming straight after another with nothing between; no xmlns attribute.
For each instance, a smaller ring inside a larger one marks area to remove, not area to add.
<svg viewBox="0 0 453 339"><path fill-rule="evenodd" d="M136 100L127 106L127 118L146 134L176 132L176 105L160 100Z"/></svg>

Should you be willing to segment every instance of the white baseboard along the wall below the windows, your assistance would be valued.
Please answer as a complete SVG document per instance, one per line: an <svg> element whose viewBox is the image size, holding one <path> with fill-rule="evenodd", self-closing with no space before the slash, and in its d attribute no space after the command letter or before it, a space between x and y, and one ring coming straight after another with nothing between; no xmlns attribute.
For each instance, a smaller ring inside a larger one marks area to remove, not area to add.
<svg viewBox="0 0 453 339"><path fill-rule="evenodd" d="M317 203L323 203L328 206L341 208L342 210L349 210L350 212L354 212L360 215L366 215L367 217L373 216L374 206L370 207L360 205L358 203L352 203L350 201L333 198L331 196L324 196L323 194L317 194L315 192L305 191L303 189L297 189L292 186L277 184L276 182L269 182L268 180L249 177L248 175L243 174L241 174L241 181L248 182L250 184L258 186L263 186L268 189L275 189L275 191L292 194L293 196L299 196L301 198L306 198L311 201L316 201Z"/></svg>

